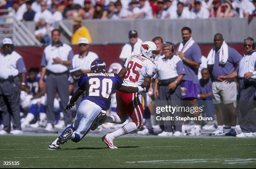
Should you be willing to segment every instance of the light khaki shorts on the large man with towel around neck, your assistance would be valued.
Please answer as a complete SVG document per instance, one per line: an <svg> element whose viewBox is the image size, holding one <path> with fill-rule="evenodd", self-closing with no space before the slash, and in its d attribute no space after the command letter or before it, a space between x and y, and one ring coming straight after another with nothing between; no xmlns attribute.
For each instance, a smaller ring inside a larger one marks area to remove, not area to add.
<svg viewBox="0 0 256 169"><path fill-rule="evenodd" d="M212 82L212 94L213 104L220 104L221 101L224 104L234 103L237 97L236 82Z"/></svg>

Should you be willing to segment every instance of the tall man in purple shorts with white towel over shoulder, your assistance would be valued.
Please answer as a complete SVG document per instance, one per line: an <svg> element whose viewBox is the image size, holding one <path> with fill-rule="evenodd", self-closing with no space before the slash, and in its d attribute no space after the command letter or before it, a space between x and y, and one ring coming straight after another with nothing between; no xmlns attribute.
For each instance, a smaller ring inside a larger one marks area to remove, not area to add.
<svg viewBox="0 0 256 169"><path fill-rule="evenodd" d="M184 76L181 84L182 98L183 100L188 100L187 103L189 103L189 106L198 107L197 94L199 81L197 74L198 68L200 67L201 64L202 54L200 47L192 39L192 30L189 27L183 27L181 32L183 41L180 46L183 47L181 50L178 50L176 55L178 55L182 59L186 72L186 75ZM194 117L198 117L198 115L198 111L194 113ZM198 120L196 120L195 123L197 125L192 127L191 135L197 136L201 134L201 126L199 125L200 123ZM186 129L185 125L182 127L182 132L184 135L186 135L188 129Z"/></svg>

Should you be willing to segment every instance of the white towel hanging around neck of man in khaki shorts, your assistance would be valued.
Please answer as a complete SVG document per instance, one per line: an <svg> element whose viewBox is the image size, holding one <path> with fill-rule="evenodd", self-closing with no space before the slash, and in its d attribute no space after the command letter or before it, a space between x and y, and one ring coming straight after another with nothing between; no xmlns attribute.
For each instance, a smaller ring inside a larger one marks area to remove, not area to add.
<svg viewBox="0 0 256 169"><path fill-rule="evenodd" d="M226 44L225 40L220 47L220 55L219 55L219 63L221 65L225 65L228 60L228 45ZM207 64L214 65L215 62L215 47L213 47L208 56L207 56Z"/></svg>

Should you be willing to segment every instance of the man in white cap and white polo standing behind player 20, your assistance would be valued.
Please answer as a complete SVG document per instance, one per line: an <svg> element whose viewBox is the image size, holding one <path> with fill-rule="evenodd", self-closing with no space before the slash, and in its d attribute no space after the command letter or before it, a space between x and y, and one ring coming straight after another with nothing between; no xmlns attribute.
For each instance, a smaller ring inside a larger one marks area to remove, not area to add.
<svg viewBox="0 0 256 169"><path fill-rule="evenodd" d="M94 52L90 52L88 49L90 47L89 41L86 37L80 37L78 40L79 50L80 53L77 55L74 55L72 59L72 70L76 71L76 80L75 80L75 86L74 86L74 92L79 88L77 85L77 80L79 79L80 75L90 73L91 68L90 65L92 62L96 59L98 59L98 55ZM71 70L71 72L72 72ZM80 73L79 73L80 72ZM74 73L71 73L71 75L74 75ZM76 102L77 107L79 107L80 102L82 101L83 95L81 95Z"/></svg>

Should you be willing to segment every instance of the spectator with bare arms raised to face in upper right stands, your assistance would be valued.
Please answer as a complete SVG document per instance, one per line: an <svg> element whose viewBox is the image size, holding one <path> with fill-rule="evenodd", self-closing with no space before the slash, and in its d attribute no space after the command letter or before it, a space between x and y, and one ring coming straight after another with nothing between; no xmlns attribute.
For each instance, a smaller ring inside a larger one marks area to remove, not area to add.
<svg viewBox="0 0 256 169"><path fill-rule="evenodd" d="M220 4L217 10L217 17L235 17L235 12L229 0Z"/></svg>

